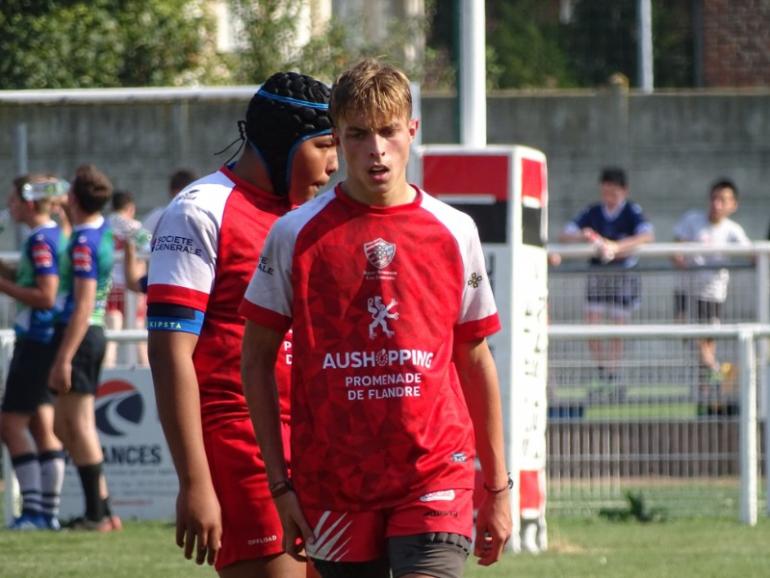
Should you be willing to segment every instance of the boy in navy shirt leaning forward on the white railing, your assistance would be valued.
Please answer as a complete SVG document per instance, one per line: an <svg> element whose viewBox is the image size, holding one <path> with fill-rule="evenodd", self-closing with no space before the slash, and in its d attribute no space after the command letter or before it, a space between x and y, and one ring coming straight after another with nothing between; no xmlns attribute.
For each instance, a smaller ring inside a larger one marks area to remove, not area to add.
<svg viewBox="0 0 770 578"><path fill-rule="evenodd" d="M559 241L591 243L596 248L586 286L586 322L626 323L639 308L641 298L639 276L630 271L638 261L632 253L639 245L653 240L653 227L642 208L628 200L628 180L623 169L603 169L599 183L601 202L588 206L567 223ZM622 398L625 388L616 386L623 342L591 340L588 344L602 384L602 389L592 390L589 395L606 390Z"/></svg>

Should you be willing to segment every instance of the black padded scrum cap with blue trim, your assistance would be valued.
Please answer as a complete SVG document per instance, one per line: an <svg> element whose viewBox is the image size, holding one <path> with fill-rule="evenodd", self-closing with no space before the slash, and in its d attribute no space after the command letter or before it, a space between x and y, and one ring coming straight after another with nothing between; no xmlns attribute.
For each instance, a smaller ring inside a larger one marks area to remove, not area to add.
<svg viewBox="0 0 770 578"><path fill-rule="evenodd" d="M289 192L294 153L306 140L332 132L331 90L304 74L279 72L267 79L246 111L246 139L265 163L273 191Z"/></svg>

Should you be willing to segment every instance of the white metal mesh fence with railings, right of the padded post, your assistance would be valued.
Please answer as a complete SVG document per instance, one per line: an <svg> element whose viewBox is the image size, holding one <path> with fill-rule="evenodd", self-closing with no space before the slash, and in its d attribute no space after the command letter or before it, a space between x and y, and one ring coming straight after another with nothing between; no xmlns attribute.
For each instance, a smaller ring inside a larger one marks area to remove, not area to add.
<svg viewBox="0 0 770 578"><path fill-rule="evenodd" d="M642 248L633 273L641 300L617 325L586 322L592 318L586 316L586 291L595 271L582 263L592 249L552 250L565 262L549 275L549 509L611 514L630 504L631 493L669 515L735 515L740 506L741 517L750 521L746 493L761 500L765 492L745 485L749 466L743 461L750 459L755 469L759 462L746 457L748 434L741 432L753 428L756 436L760 426L743 423L757 403L741 396L754 382L759 407L767 404L770 243ZM732 255L722 326L698 323L693 311L676 315L674 294L693 271L675 269L669 259L695 252ZM741 345L741 335L750 336L750 345ZM716 375L699 361L705 339L716 345ZM600 347L617 352L610 369L599 368Z"/></svg>

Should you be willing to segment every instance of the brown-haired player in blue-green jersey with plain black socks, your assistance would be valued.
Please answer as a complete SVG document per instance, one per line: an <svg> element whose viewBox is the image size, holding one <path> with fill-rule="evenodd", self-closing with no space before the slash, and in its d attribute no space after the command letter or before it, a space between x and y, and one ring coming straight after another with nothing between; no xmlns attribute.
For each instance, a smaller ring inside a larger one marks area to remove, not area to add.
<svg viewBox="0 0 770 578"><path fill-rule="evenodd" d="M73 529L109 532L121 529L112 514L102 472L104 455L96 431L94 397L106 347L104 316L112 274L112 231L102 215L112 183L93 165L75 172L69 192L72 236L61 273L61 313L48 386L58 393L54 427L78 468L85 514Z"/></svg>

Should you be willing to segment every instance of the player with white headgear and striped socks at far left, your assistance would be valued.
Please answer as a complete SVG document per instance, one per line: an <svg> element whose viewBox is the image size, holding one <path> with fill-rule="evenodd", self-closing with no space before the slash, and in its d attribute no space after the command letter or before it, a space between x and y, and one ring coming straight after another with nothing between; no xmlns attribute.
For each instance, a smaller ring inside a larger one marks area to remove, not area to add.
<svg viewBox="0 0 770 578"><path fill-rule="evenodd" d="M53 397L48 372L55 353L53 321L59 288L59 250L65 244L51 220L51 202L64 181L19 177L8 198L11 217L30 229L16 280L0 277L0 291L17 301L16 343L3 398L3 443L11 455L22 496L14 530L59 529L57 514L64 481L64 452L53 432ZM62 191L63 189L63 191Z"/></svg>

